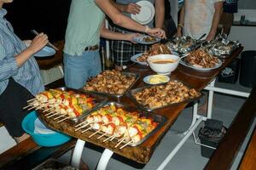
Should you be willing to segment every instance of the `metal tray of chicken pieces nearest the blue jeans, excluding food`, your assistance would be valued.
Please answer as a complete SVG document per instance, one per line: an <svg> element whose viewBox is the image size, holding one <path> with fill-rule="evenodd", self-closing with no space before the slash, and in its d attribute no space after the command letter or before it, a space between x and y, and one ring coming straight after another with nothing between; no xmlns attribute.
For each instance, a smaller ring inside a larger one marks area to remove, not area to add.
<svg viewBox="0 0 256 170"><path fill-rule="evenodd" d="M83 89L83 91L88 92L88 93L93 93L93 94L101 94L101 95L105 95L105 96L120 98L120 97L124 96L131 89L131 87L135 84L135 82L137 82L137 80L140 78L140 76L134 72L125 72L124 71L124 72L122 72L122 74L135 77L135 81L132 82L131 86L125 90L124 94L108 94L108 93L97 92L97 91L88 91L88 90L84 90L84 89Z"/></svg>

